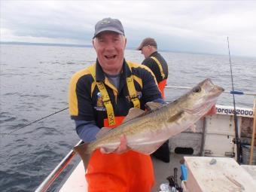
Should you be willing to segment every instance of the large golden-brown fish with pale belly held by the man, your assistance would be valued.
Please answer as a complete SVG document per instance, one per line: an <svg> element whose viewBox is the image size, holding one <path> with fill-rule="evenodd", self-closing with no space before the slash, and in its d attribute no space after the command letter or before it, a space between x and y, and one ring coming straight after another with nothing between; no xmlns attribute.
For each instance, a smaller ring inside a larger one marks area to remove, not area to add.
<svg viewBox="0 0 256 192"><path fill-rule="evenodd" d="M114 129L102 128L94 142L78 145L74 150L81 155L84 165L97 148L108 153L120 145L120 136L125 135L127 146L142 154L152 154L163 142L189 127L203 117L215 105L222 87L206 79L174 102L162 105L148 102L150 111L131 108L123 123Z"/></svg>

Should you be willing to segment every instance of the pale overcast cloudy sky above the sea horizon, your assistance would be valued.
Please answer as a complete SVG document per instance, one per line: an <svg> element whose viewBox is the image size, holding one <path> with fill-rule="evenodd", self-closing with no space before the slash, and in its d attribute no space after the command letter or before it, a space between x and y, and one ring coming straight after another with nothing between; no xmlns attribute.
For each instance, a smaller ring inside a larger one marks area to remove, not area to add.
<svg viewBox="0 0 256 192"><path fill-rule="evenodd" d="M104 17L123 23L127 47L256 56L256 1L3 1L1 41L91 44Z"/></svg>

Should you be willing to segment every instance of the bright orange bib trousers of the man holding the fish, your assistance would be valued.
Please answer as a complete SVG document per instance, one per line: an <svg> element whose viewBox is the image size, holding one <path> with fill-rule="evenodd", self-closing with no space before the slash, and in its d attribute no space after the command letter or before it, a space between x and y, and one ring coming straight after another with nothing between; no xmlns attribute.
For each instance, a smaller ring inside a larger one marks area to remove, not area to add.
<svg viewBox="0 0 256 192"><path fill-rule="evenodd" d="M115 117L118 126L123 117ZM104 120L108 126L108 120ZM151 157L136 151L102 154L94 151L85 175L89 192L150 192L154 185Z"/></svg>

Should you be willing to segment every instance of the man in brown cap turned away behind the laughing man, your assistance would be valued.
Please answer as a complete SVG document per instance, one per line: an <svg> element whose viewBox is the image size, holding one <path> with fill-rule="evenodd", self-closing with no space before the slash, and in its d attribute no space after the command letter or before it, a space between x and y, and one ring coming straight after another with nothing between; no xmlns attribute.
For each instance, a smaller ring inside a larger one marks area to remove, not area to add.
<svg viewBox="0 0 256 192"><path fill-rule="evenodd" d="M169 72L166 60L157 52L157 41L154 38L145 38L137 50L141 50L145 56L142 65L148 66L154 73L158 88L164 98L164 88L166 87ZM157 159L163 160L163 162L169 163L169 140L164 142L152 155Z"/></svg>

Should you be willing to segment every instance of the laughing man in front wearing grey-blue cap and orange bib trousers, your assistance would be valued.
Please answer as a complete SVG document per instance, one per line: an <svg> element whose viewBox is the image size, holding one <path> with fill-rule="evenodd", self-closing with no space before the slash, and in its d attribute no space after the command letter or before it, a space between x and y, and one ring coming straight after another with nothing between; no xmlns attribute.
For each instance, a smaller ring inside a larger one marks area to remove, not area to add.
<svg viewBox="0 0 256 192"><path fill-rule="evenodd" d="M147 102L163 102L154 74L146 66L124 59L126 38L120 20L105 18L95 26L96 62L72 76L69 113L78 136L92 142L104 127L120 125L130 108L145 110ZM85 175L89 192L149 192L154 169L149 155L129 150L126 137L111 154L93 152Z"/></svg>

